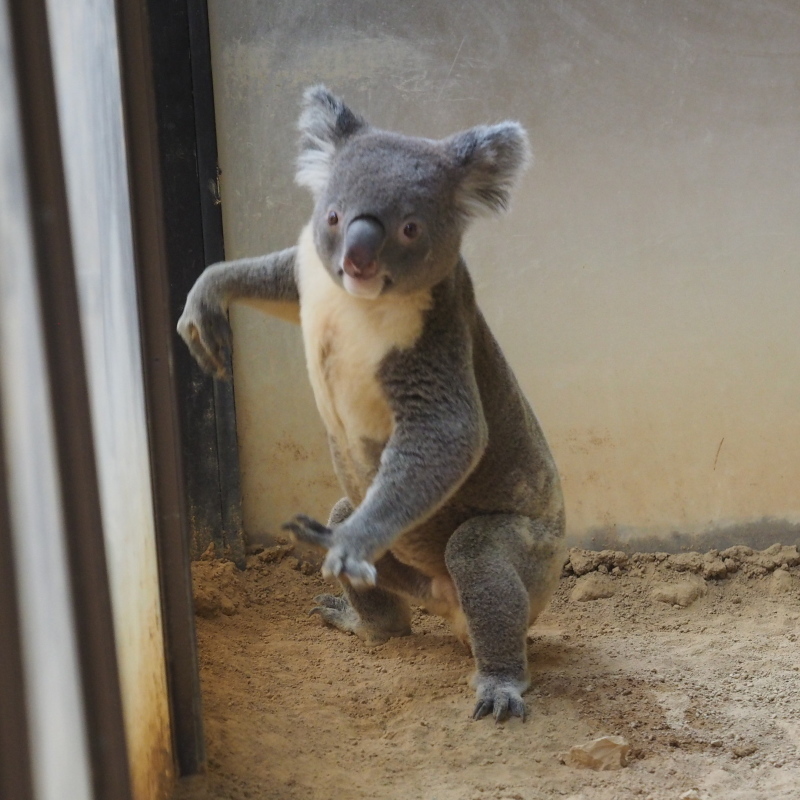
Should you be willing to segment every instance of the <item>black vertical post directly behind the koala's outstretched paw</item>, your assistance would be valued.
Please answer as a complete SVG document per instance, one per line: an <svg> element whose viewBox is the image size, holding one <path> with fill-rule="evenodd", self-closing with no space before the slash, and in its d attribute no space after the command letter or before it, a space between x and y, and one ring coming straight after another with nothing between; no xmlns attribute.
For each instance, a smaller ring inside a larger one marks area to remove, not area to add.
<svg viewBox="0 0 800 800"><path fill-rule="evenodd" d="M148 0L148 13L174 331L192 285L224 255L208 12L205 0ZM243 567L233 386L179 342L174 368L193 555L213 543Z"/></svg>

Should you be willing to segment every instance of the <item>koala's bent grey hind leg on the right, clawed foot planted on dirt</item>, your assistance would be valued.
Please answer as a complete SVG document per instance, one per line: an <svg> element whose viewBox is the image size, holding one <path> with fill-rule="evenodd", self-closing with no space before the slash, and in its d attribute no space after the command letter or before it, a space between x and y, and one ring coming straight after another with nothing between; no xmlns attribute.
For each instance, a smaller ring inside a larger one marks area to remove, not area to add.
<svg viewBox="0 0 800 800"><path fill-rule="evenodd" d="M450 537L445 561L477 666L474 719L525 718L528 626L558 582L563 552L560 520L492 514L468 520Z"/></svg>

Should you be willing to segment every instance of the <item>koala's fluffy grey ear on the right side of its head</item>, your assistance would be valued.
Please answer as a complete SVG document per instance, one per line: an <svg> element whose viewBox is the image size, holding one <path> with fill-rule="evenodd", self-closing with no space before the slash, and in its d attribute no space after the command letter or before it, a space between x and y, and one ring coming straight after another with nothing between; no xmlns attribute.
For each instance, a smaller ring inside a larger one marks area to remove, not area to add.
<svg viewBox="0 0 800 800"><path fill-rule="evenodd" d="M445 140L457 170L456 203L467 217L504 211L517 178L531 161L518 122L479 125Z"/></svg>

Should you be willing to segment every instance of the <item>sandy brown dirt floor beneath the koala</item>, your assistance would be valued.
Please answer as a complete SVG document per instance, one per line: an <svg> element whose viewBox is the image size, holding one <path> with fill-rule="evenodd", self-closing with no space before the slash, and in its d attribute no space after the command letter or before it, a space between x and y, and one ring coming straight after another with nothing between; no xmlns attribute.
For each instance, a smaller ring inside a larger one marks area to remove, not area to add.
<svg viewBox="0 0 800 800"><path fill-rule="evenodd" d="M573 550L529 633L529 718L473 722L439 619L372 650L308 616L289 546L194 565L208 773L178 800L800 796L800 555ZM624 737L628 764L570 748ZM567 762L567 763L565 763Z"/></svg>

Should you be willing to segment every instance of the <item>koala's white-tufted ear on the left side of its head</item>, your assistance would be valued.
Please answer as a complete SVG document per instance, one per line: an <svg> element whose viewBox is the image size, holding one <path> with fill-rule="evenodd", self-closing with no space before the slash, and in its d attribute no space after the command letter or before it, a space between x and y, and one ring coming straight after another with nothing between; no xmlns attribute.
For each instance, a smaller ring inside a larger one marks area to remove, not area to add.
<svg viewBox="0 0 800 800"><path fill-rule="evenodd" d="M303 95L298 127L300 156L295 180L318 194L328 182L336 149L368 126L324 86L312 86Z"/></svg>

